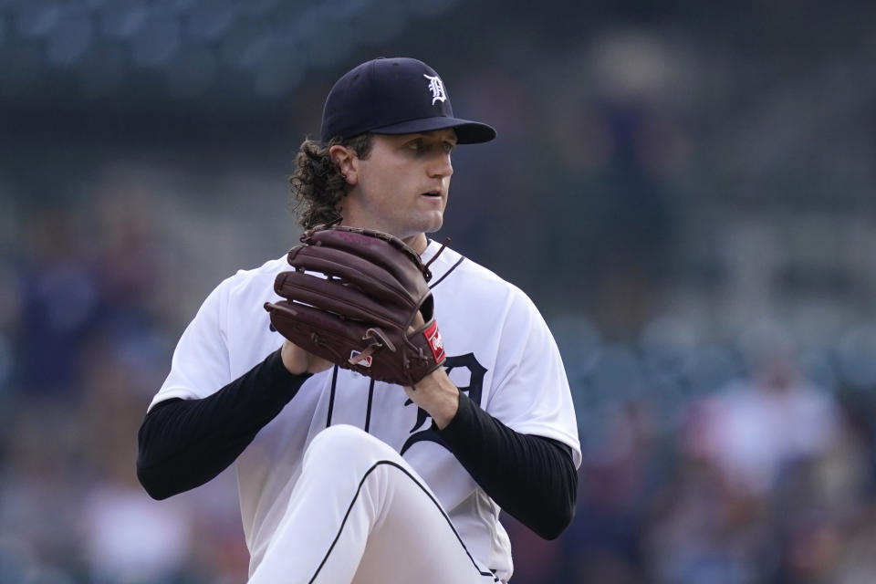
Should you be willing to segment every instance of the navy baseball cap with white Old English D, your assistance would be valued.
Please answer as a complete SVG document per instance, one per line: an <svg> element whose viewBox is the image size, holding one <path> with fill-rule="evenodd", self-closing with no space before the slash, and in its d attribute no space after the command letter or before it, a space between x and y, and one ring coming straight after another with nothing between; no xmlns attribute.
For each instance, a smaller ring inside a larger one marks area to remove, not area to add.
<svg viewBox="0 0 876 584"><path fill-rule="evenodd" d="M413 134L453 128L460 144L491 141L495 130L454 118L444 83L415 58L375 58L350 69L328 92L319 139Z"/></svg>

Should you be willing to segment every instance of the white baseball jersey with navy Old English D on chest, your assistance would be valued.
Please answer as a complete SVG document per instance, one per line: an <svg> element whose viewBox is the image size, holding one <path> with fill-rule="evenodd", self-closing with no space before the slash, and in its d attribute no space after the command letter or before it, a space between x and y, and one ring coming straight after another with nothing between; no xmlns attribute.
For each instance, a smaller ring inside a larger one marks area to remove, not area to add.
<svg viewBox="0 0 876 584"><path fill-rule="evenodd" d="M438 249L430 241L423 261ZM430 268L450 379L516 432L568 444L578 467L578 427L566 373L535 305L519 288L450 248ZM239 271L214 289L183 332L171 372L150 408L170 398L207 397L282 345L263 305L281 299L274 279L288 269L284 255ZM498 521L499 507L454 455L434 442L431 422L401 387L353 371L336 367L305 381L235 462L251 572L285 511L305 448L321 430L344 423L401 453L432 488L474 558L499 579L509 578L511 547Z"/></svg>

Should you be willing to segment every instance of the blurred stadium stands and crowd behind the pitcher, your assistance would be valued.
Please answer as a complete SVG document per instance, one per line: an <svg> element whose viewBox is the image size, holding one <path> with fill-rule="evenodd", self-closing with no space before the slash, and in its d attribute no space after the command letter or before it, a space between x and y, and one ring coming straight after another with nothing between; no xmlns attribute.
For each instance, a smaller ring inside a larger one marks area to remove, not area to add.
<svg viewBox="0 0 876 584"><path fill-rule="evenodd" d="M876 581L876 5L0 0L0 582L245 581L225 473L136 431L203 297L284 253L321 100L420 57L445 229L554 330L578 515L516 584Z"/></svg>

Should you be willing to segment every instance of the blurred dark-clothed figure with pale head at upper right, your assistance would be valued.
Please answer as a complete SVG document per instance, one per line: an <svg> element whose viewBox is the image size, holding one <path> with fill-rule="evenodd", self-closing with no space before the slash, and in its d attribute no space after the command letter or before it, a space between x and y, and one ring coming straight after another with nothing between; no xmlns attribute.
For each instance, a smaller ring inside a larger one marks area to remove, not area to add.
<svg viewBox="0 0 876 584"><path fill-rule="evenodd" d="M597 36L570 69L595 81L548 112L543 256L575 266L569 285L612 337L630 339L669 276L676 195L668 177L687 162L687 138L665 97L679 63L643 33Z"/></svg>

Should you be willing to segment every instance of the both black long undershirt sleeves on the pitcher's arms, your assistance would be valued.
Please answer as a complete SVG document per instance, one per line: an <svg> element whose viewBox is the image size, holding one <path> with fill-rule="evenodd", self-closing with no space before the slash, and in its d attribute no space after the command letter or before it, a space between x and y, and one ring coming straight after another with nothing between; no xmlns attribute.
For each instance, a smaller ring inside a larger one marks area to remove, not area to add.
<svg viewBox="0 0 876 584"><path fill-rule="evenodd" d="M157 403L139 434L137 476L147 493L164 499L212 480L308 377L289 373L277 350L206 398ZM486 494L540 537L557 537L571 522L578 474L566 444L517 433L462 392L438 435Z"/></svg>

